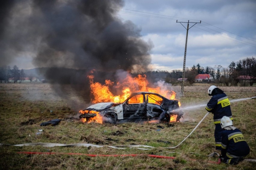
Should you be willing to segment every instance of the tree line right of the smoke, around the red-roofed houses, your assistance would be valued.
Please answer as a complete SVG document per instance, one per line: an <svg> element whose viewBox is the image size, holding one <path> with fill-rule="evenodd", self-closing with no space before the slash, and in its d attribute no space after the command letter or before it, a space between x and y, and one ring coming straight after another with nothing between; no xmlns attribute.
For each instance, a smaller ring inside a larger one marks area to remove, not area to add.
<svg viewBox="0 0 256 170"><path fill-rule="evenodd" d="M176 83L177 79L182 78L181 70L169 71L150 71L145 73L147 78L152 80L164 79L168 83ZM216 85L241 86L249 84L252 86L256 80L256 59L254 57L245 58L238 62L231 62L227 68L222 65L215 65L214 67L202 67L199 63L193 65L191 68L185 69L185 78L187 82L192 85L195 82L195 77L198 74L210 74L213 82ZM135 75L134 75L135 76Z"/></svg>

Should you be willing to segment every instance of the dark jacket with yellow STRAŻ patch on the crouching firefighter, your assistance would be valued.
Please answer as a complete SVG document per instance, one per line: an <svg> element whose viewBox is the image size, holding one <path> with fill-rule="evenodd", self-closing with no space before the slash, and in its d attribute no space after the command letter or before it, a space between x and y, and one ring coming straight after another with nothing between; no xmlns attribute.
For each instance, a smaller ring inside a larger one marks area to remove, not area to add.
<svg viewBox="0 0 256 170"><path fill-rule="evenodd" d="M250 152L250 148L239 129L222 132L221 148L221 155L226 155L230 159L245 157Z"/></svg>

